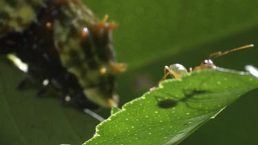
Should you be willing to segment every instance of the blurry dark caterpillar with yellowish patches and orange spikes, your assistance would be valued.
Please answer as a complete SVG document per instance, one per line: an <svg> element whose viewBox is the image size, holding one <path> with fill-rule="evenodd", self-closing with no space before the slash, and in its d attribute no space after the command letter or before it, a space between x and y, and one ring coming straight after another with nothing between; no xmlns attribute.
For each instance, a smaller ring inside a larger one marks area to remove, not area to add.
<svg viewBox="0 0 258 145"><path fill-rule="evenodd" d="M100 21L79 0L0 4L6 8L0 10L0 53L28 64L20 87L44 82L43 88L54 88L79 109L117 106L116 74L126 66L116 63L111 38L116 23L107 16Z"/></svg>

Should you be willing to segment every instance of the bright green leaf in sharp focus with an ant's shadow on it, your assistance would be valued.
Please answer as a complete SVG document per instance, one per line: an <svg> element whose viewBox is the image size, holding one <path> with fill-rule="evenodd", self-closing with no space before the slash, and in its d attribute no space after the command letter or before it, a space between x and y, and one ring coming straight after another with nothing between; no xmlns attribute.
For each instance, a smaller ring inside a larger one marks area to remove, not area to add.
<svg viewBox="0 0 258 145"><path fill-rule="evenodd" d="M164 80L99 124L85 144L178 144L257 87L250 74L222 68Z"/></svg>

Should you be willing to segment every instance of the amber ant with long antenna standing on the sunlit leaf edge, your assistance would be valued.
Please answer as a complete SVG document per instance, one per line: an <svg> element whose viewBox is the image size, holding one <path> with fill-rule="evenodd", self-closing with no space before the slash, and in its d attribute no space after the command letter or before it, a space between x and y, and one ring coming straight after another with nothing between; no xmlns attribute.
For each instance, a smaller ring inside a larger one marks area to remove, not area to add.
<svg viewBox="0 0 258 145"><path fill-rule="evenodd" d="M213 60L215 58L218 58L219 56L224 56L226 54L229 54L230 52L235 52L235 51L250 48L250 47L254 47L254 45L253 44L244 45L241 47L230 49L226 52L215 52L213 54L210 54L210 56L208 56L208 59L202 61L202 63L199 66L194 67L194 69L190 68L189 71L191 73L193 71L199 71L202 69L217 69L217 66L213 63ZM188 71L183 65L180 65L178 63L170 65L169 67L166 65L164 67L164 76L162 77L161 80L165 80L166 77L169 75L174 76L175 78L180 78L182 76L185 76L186 74L188 74Z"/></svg>

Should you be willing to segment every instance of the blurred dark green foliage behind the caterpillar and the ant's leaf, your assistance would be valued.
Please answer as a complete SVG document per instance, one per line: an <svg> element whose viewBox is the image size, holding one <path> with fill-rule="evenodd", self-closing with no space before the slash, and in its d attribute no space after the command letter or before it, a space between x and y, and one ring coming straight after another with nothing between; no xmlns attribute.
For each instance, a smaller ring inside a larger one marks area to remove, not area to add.
<svg viewBox="0 0 258 145"><path fill-rule="evenodd" d="M128 70L118 77L120 105L158 84L164 65L195 67L209 54L253 43L257 47L217 58L219 67L258 67L258 1L85 0L100 18L119 27L114 46ZM23 74L0 61L0 144L81 144L95 132L94 118L60 100L17 91ZM227 107L181 144L257 144L258 91ZM109 110L98 111L105 118Z"/></svg>

